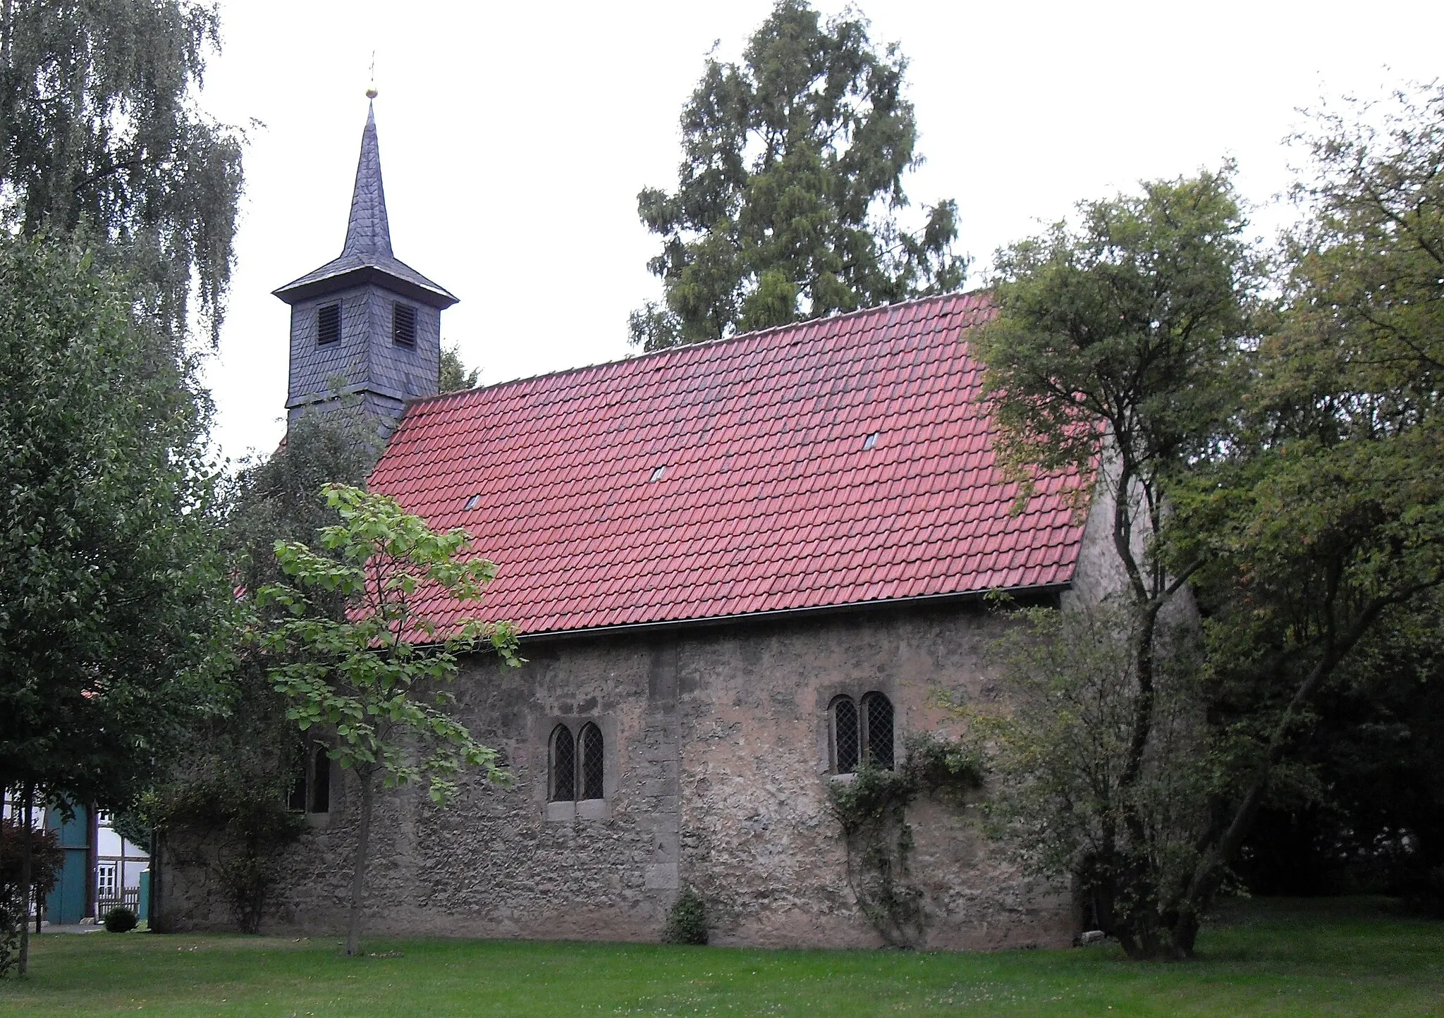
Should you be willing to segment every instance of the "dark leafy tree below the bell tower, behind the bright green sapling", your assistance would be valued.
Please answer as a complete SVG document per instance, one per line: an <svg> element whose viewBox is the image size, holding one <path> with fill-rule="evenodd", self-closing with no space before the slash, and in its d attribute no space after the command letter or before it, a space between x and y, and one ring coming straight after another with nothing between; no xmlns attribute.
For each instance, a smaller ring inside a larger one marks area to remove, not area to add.
<svg viewBox="0 0 1444 1018"><path fill-rule="evenodd" d="M284 580L276 541L316 546L321 530L341 520L322 485L362 485L380 445L375 422L360 406L338 400L325 413L292 422L271 455L231 478L219 539L248 625L289 615L276 605L256 605L258 591ZM341 619L347 599L313 596L308 611ZM309 744L286 716L287 700L270 680L274 664L237 632L212 703L186 732L169 774L121 817L133 823L137 840L155 836L157 850L204 868L244 933L258 930L280 859L303 829L289 800L296 775L305 774ZM165 924L163 913L153 917L156 928Z"/></svg>

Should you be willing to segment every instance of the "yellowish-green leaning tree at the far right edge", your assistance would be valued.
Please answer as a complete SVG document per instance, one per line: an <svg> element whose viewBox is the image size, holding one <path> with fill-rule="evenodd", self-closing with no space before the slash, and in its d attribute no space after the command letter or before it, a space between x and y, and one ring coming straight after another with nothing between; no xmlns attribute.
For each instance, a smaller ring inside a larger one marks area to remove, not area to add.
<svg viewBox="0 0 1444 1018"><path fill-rule="evenodd" d="M1177 492L1170 557L1204 563L1232 762L1190 881L1194 908L1314 731L1320 695L1438 647L1444 90L1395 101L1382 130L1369 111L1327 114L1305 139L1315 178L1295 192L1307 217L1287 238L1251 399Z"/></svg>

